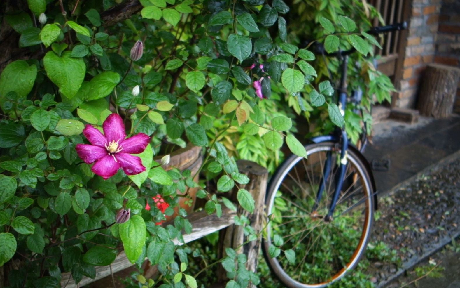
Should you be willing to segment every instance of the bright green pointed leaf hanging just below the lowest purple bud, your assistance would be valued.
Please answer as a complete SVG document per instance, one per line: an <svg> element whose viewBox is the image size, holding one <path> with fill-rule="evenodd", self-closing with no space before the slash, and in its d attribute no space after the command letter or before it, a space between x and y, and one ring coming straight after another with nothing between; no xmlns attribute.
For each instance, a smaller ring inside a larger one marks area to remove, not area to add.
<svg viewBox="0 0 460 288"><path fill-rule="evenodd" d="M145 245L147 231L144 219L139 215L133 215L127 222L118 225L118 227L126 257L131 263L134 263L142 254L142 248Z"/></svg>

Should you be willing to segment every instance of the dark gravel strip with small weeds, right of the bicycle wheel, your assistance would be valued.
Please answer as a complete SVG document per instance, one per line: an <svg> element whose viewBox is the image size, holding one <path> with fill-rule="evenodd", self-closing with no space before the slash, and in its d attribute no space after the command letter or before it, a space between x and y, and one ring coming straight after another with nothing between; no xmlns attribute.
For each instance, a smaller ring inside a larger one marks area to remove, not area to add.
<svg viewBox="0 0 460 288"><path fill-rule="evenodd" d="M460 157L437 165L380 199L373 241L384 241L403 264L375 262L378 287L460 234ZM399 286L386 286L399 287Z"/></svg>

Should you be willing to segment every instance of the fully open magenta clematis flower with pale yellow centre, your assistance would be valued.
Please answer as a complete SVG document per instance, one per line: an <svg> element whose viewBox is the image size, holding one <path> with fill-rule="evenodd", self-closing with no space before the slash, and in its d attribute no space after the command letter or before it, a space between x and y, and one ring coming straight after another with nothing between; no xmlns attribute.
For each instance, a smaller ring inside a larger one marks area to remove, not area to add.
<svg viewBox="0 0 460 288"><path fill-rule="evenodd" d="M105 179L114 176L122 168L126 175L136 175L145 171L142 161L137 156L144 152L150 137L139 133L126 138L125 125L118 114L110 114L102 124L104 134L92 125L86 125L83 135L92 145L77 144L78 156L87 164L93 162L91 170Z"/></svg>

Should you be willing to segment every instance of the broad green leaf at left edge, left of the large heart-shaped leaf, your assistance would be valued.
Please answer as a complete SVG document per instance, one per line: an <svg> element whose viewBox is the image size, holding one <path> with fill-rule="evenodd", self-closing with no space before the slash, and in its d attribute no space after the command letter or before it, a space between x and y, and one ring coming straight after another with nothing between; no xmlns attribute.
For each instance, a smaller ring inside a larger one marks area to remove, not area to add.
<svg viewBox="0 0 460 288"><path fill-rule="evenodd" d="M37 77L37 66L27 64L26 61L16 60L6 65L0 75L0 104L3 107L8 92L16 92L25 98L34 87Z"/></svg>

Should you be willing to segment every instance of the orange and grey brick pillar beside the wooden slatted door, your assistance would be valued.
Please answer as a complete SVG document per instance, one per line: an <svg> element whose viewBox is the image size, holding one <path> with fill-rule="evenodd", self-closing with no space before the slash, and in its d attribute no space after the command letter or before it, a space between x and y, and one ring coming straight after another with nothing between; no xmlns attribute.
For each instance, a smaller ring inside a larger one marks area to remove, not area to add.
<svg viewBox="0 0 460 288"><path fill-rule="evenodd" d="M399 83L395 83L399 91L393 105L397 107L415 107L420 75L435 59L441 4L441 0L413 0L403 76Z"/></svg>

